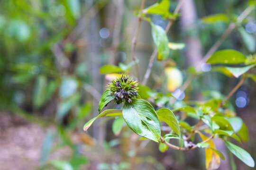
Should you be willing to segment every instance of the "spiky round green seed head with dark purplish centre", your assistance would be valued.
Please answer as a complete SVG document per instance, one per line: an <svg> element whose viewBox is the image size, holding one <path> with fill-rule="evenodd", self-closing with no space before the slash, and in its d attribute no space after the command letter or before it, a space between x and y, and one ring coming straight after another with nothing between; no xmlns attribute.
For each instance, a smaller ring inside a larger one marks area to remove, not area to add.
<svg viewBox="0 0 256 170"><path fill-rule="evenodd" d="M111 95L115 96L117 104L121 102L132 102L132 99L137 96L138 83L132 77L121 74L113 79L107 86Z"/></svg>

